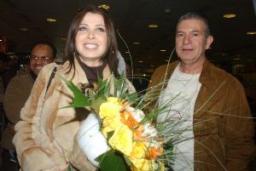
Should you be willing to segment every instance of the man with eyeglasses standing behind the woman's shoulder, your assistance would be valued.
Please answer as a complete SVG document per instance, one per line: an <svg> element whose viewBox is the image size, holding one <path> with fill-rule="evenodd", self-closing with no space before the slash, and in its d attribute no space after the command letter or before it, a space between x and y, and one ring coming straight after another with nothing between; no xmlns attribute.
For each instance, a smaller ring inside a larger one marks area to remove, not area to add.
<svg viewBox="0 0 256 171"><path fill-rule="evenodd" d="M43 66L55 61L56 48L52 43L40 41L34 43L30 50L30 61L27 71L20 71L9 82L4 100L3 108L8 118L8 125L3 132L1 145L3 147L3 162L0 171L19 170L19 162L16 159L15 146L12 144L15 135L15 123L20 120L20 110L25 105L31 93L33 83L38 77Z"/></svg>

